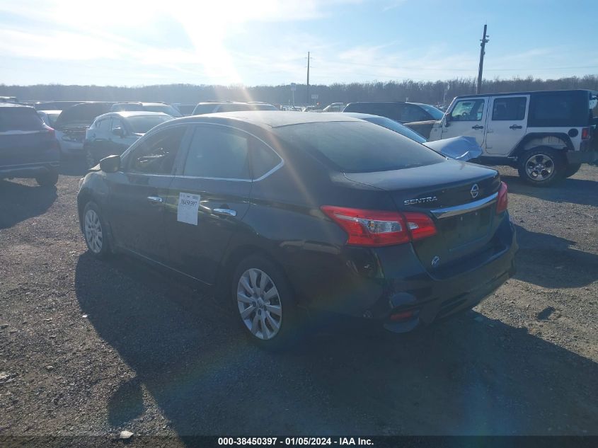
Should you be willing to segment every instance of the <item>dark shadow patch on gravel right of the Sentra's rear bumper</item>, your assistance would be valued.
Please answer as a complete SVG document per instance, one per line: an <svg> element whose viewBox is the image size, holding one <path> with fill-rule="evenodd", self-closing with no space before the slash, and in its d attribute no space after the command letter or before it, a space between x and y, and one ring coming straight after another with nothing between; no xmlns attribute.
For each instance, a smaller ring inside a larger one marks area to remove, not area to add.
<svg viewBox="0 0 598 448"><path fill-rule="evenodd" d="M575 241L517 228L518 280L546 288L573 288L598 279L598 255L575 248ZM549 274L548 274L549 272Z"/></svg>

